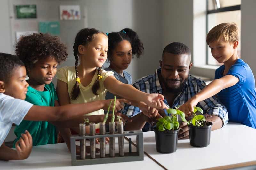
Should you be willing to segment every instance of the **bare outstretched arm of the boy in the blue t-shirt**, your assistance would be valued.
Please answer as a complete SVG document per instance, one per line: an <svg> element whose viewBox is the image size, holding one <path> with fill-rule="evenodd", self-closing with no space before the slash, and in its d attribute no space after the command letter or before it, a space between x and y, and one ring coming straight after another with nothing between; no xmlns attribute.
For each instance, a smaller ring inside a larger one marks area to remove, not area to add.
<svg viewBox="0 0 256 170"><path fill-rule="evenodd" d="M179 110L183 111L186 114L189 114L193 112L194 106L196 106L198 102L214 96L223 89L235 85L236 83L238 83L238 81L239 79L232 75L226 75L220 79L213 80L209 85L204 87L195 96L193 96L186 103L180 106Z"/></svg>

